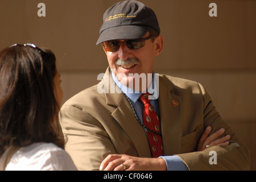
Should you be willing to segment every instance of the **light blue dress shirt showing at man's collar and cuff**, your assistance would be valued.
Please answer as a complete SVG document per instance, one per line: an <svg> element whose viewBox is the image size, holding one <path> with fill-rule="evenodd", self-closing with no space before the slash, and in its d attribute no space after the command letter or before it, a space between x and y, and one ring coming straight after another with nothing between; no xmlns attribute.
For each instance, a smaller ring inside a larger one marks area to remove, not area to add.
<svg viewBox="0 0 256 182"><path fill-rule="evenodd" d="M125 85L122 85L121 82L115 78L114 73L111 72L111 77L115 81L115 84L122 90L124 94L129 98L131 104L134 107L134 110L137 114L137 117L139 118L139 121L143 123L142 121L142 111L143 111L143 104L141 101L139 101L139 97L141 96L142 92L135 92L134 90L127 88ZM153 80L154 80L154 85L158 87L157 82L155 81L154 73L153 75ZM152 82L151 82L152 84ZM150 85L151 86L151 85ZM149 87L150 88L150 87ZM158 89L154 89L154 92L158 92ZM153 96L158 96L158 93L154 93ZM153 105L155 111L157 111L158 116L159 114L159 104L158 104L158 99L155 100L150 100L150 104ZM161 118L160 118L161 119ZM146 131L145 131L146 132ZM181 158L179 156L160 156L159 158L165 159L166 166L167 166L167 171L187 171L188 168L187 166L182 162Z"/></svg>

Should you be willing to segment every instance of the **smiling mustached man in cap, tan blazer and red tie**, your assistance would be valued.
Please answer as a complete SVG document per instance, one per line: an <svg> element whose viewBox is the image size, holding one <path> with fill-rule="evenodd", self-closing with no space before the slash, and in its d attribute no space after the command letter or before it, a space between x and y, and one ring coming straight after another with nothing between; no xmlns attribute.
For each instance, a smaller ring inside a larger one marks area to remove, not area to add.
<svg viewBox="0 0 256 182"><path fill-rule="evenodd" d="M249 169L247 148L222 121L205 88L153 72L163 49L153 10L138 1L111 6L97 44L109 62L105 75L70 98L59 115L65 148L78 169ZM218 155L218 165L210 161L210 151Z"/></svg>

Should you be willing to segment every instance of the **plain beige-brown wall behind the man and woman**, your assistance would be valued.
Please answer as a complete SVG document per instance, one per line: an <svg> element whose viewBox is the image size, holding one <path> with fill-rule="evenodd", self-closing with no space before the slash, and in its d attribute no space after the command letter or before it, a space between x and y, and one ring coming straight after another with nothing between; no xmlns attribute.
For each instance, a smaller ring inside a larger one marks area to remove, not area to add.
<svg viewBox="0 0 256 182"><path fill-rule="evenodd" d="M37 5L46 5L46 17ZM96 46L102 15L114 0L0 0L0 49L47 46L57 56L66 101L98 82L107 60ZM256 170L256 1L143 0L158 16L165 48L155 72L205 85L223 119L251 150ZM217 17L209 4L217 4Z"/></svg>

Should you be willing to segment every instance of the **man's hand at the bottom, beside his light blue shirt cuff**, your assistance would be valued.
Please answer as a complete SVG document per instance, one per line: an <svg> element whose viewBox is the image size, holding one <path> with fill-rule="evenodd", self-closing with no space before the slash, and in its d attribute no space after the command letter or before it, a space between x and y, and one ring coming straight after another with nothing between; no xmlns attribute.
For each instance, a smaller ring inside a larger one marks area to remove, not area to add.
<svg viewBox="0 0 256 182"><path fill-rule="evenodd" d="M166 171L162 158L137 158L129 155L110 154L101 163L103 171Z"/></svg>

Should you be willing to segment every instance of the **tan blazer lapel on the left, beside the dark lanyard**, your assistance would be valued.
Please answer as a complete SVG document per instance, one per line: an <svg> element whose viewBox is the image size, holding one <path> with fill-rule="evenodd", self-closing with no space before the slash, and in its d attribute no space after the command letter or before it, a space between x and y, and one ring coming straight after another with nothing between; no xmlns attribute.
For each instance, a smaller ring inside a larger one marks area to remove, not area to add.
<svg viewBox="0 0 256 182"><path fill-rule="evenodd" d="M108 80L108 84L106 83ZM137 154L139 157L151 157L149 143L143 127L138 123L129 101L126 99L125 95L121 93L121 90L116 87L114 80L110 76L109 68L107 68L106 74L104 76L105 82L105 96L106 104L116 107L113 111L113 118L119 123L125 133L130 137L133 142ZM106 88L106 86L108 88ZM113 91L113 86L115 92ZM108 91L107 91L108 90ZM107 91L107 92L106 92Z"/></svg>

